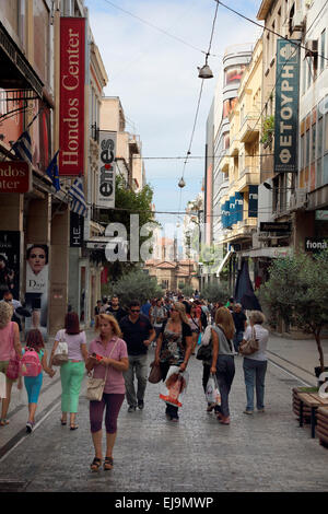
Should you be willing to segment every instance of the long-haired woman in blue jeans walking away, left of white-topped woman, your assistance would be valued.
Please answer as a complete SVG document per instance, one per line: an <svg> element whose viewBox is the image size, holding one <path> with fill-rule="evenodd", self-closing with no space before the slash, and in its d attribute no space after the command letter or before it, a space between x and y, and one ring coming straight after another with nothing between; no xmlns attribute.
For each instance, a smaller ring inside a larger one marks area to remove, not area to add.
<svg viewBox="0 0 328 514"><path fill-rule="evenodd" d="M234 332L235 325L229 308L218 308L215 324L212 326L211 373L215 373L218 378L221 406L216 410L216 418L222 424L230 424L229 394L235 376L235 352L232 343Z"/></svg>

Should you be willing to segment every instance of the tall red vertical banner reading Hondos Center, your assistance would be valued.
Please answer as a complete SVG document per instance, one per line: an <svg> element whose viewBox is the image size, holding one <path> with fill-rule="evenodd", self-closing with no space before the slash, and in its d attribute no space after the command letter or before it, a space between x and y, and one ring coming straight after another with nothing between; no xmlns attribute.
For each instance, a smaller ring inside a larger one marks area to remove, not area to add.
<svg viewBox="0 0 328 514"><path fill-rule="evenodd" d="M85 19L60 19L59 175L83 175Z"/></svg>

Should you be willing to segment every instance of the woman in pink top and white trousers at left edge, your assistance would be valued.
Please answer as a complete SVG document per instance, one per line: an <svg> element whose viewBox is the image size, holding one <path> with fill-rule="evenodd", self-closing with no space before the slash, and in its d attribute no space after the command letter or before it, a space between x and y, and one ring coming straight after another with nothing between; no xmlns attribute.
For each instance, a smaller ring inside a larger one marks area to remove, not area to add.
<svg viewBox="0 0 328 514"><path fill-rule="evenodd" d="M7 372L9 361L15 354L21 359L22 344L20 341L20 328L12 322L13 306L8 302L0 302L0 372ZM5 376L5 398L2 398L0 427L9 423L7 412L9 409L11 389L15 381ZM22 386L22 385L21 385Z"/></svg>

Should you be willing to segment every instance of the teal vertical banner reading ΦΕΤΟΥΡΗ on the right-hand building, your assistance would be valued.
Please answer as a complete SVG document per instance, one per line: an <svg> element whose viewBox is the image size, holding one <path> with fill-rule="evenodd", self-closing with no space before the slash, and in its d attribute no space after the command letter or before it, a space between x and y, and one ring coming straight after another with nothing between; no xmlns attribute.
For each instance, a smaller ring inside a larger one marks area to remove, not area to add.
<svg viewBox="0 0 328 514"><path fill-rule="evenodd" d="M274 173L297 172L300 47L296 45L300 45L296 39L277 42Z"/></svg>

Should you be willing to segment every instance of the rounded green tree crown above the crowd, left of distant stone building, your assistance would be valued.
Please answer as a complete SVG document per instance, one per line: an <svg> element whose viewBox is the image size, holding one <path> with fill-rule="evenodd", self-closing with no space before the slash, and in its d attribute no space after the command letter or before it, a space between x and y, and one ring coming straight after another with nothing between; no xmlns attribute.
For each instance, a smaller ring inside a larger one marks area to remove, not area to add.
<svg viewBox="0 0 328 514"><path fill-rule="evenodd" d="M162 297L163 290L154 277L141 270L125 273L114 284L106 288L108 295L117 294L121 305L127 306L131 300L139 300L143 304L147 300Z"/></svg>

